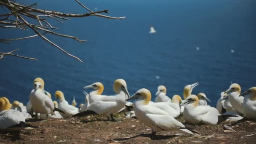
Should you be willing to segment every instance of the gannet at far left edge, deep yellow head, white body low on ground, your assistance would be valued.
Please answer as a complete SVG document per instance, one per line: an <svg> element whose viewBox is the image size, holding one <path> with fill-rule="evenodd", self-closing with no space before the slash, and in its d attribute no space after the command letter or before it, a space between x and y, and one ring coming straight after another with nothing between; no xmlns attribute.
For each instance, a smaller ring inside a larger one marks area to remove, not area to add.
<svg viewBox="0 0 256 144"><path fill-rule="evenodd" d="M26 124L25 117L21 112L10 108L10 101L6 97L0 97L0 130L27 126L34 127Z"/></svg>

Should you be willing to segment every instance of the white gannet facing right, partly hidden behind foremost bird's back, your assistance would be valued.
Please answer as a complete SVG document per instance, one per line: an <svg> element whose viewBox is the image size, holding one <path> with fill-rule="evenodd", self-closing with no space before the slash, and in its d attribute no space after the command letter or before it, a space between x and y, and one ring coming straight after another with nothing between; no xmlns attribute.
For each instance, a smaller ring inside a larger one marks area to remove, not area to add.
<svg viewBox="0 0 256 144"><path fill-rule="evenodd" d="M174 95L173 102L155 102L149 103L148 105L162 109L163 111L168 112L172 117L177 118L181 114L181 108L179 107L181 102L181 97L179 95Z"/></svg>

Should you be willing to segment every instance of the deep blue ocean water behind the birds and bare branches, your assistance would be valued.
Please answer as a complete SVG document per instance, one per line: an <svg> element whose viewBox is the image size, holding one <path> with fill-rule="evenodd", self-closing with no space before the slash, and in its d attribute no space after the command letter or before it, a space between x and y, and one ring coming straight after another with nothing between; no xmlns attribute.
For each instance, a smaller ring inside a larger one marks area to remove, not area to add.
<svg viewBox="0 0 256 144"><path fill-rule="evenodd" d="M22 0L33 4L36 1ZM45 36L84 63L65 55L40 37L0 43L0 51L19 48L18 55L38 60L5 56L0 60L0 96L27 103L35 77L45 80L52 96L64 92L67 101L76 96L83 103L83 87L104 84L104 94L114 94L115 79L123 78L130 94L147 88L154 100L158 85L168 96L182 96L187 84L199 82L193 93L206 93L215 106L221 91L239 83L242 91L256 86L256 1L255 0L87 0L94 10L109 9L110 16L123 20L86 17L49 20L63 34L86 39L86 43ZM51 5L49 5L51 3ZM85 13L73 0L38 0L39 8L65 13ZM1 13L5 13L0 8ZM149 27L157 30L149 35ZM1 28L1 38L33 35L29 31ZM197 50L196 47L200 49ZM234 50L234 53L231 53ZM156 79L156 77L159 79ZM89 92L89 91L88 91ZM54 96L53 96L53 99Z"/></svg>

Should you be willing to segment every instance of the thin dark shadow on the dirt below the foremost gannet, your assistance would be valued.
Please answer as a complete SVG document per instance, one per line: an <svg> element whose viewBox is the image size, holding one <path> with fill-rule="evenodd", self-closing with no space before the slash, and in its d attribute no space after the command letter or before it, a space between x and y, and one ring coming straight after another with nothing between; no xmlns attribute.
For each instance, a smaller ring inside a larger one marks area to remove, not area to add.
<svg viewBox="0 0 256 144"><path fill-rule="evenodd" d="M132 137L129 137L129 138L120 138L120 139L114 139L115 141L126 141L126 140L129 140L129 139L134 139L136 137L139 137L139 136L142 136L142 137L148 137L152 140L160 140L160 139L172 139L178 135L171 135L171 136L166 136L166 135L155 135L154 137L152 137L152 134L151 133L148 133L148 134L144 134L144 133L141 133L137 136L132 136Z"/></svg>

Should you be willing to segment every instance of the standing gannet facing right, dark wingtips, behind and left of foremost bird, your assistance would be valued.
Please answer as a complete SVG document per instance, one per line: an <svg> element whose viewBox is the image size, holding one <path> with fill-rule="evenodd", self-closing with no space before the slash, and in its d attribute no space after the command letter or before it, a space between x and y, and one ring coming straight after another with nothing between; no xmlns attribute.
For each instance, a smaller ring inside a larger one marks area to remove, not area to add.
<svg viewBox="0 0 256 144"><path fill-rule="evenodd" d="M91 88L97 87L96 85L95 86L93 85L91 86ZM105 115L109 117L110 115L112 118L112 121L118 121L118 120L115 120L115 118L113 117L113 114L117 113L118 111L120 111L120 109L122 109L125 106L125 100L130 95L127 90L126 82L123 79L115 80L113 89L116 93L115 95L105 96L101 99L93 101L86 111L80 112L79 114L74 116L98 114L98 115ZM91 95L91 93L89 95Z"/></svg>

